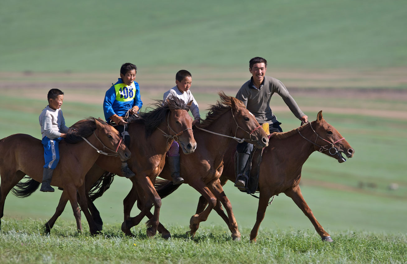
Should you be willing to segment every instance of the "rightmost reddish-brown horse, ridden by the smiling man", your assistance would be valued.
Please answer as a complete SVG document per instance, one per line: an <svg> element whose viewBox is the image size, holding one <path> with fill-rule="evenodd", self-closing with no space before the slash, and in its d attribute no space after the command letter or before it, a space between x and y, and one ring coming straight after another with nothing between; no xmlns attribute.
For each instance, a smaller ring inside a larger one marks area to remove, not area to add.
<svg viewBox="0 0 407 264"><path fill-rule="evenodd" d="M228 180L235 181L234 161L232 158L234 150L235 148L230 148L226 154L229 158L225 158L224 169L220 178L222 186ZM271 134L269 146L263 151L263 158L259 167L258 189L260 190L260 199L256 223L250 233L251 241L256 242L258 229L264 218L270 198L280 193L284 193L293 199L295 204L312 222L323 241L333 241L314 217L302 197L299 186L302 165L315 150L337 159L339 163L346 161L341 153L344 153L348 158L352 158L354 154L354 150L350 147L348 141L322 117L322 111L318 113L316 121L289 132ZM206 199L201 196L197 212L204 211L206 203ZM228 224L228 216L225 215L219 203L215 210Z"/></svg>

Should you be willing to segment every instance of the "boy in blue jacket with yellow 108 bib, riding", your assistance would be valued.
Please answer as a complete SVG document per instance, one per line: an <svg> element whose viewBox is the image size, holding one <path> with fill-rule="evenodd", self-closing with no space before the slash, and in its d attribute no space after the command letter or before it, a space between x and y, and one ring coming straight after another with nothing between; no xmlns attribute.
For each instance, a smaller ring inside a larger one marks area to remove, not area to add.
<svg viewBox="0 0 407 264"><path fill-rule="evenodd" d="M103 101L103 112L107 123L113 121L117 124L116 129L122 135L127 147L130 145L130 136L126 130L127 121L123 119L126 113L137 114L143 102L140 99L140 87L134 81L136 79L137 67L131 63L125 63L120 68L120 78L116 84L112 84L106 91ZM129 169L127 162L122 162L121 172L126 178L135 174Z"/></svg>

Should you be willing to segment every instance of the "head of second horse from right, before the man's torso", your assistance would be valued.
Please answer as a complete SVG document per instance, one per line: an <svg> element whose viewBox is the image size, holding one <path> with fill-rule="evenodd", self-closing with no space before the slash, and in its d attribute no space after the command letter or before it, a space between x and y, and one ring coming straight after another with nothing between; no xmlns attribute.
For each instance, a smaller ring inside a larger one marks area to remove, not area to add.
<svg viewBox="0 0 407 264"><path fill-rule="evenodd" d="M222 97L221 94L219 95ZM231 106L232 117L236 123L235 136L254 144L256 147L267 147L269 139L254 115L247 110L240 100L234 97L231 97Z"/></svg>

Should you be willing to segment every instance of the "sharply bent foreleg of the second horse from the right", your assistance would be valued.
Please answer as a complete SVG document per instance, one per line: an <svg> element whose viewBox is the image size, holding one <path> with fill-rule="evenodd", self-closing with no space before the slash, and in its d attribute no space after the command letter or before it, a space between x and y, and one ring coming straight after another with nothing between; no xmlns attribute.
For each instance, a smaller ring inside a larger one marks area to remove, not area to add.
<svg viewBox="0 0 407 264"><path fill-rule="evenodd" d="M206 199L208 206L201 213L196 213L193 215L189 221L190 235L193 237L199 228L199 223L204 222L208 219L210 211L216 206L216 197L212 194L210 189L201 180L189 183L194 189L199 191L199 193Z"/></svg>

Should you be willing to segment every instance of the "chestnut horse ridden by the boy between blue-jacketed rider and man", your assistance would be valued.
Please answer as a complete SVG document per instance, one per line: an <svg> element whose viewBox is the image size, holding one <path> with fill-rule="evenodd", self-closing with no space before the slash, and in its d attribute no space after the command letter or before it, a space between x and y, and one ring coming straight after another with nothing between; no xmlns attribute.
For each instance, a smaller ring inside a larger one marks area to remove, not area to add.
<svg viewBox="0 0 407 264"><path fill-rule="evenodd" d="M199 147L193 154L181 154L180 174L184 178L184 183L196 189L209 202L209 206L205 211L195 214L190 219L190 235L195 235L199 223L207 220L210 210L215 206L217 200L220 200L228 212L228 226L232 232L232 238L240 240L241 234L233 216L232 206L219 181L223 167L223 156L228 147L231 145L236 147L237 142L234 140L236 137L251 142L260 148L267 146L268 138L254 116L241 101L226 96L223 92L219 92L219 96L220 101L210 108L206 120L194 129L194 137ZM158 191L160 196L165 197L162 192L168 194L168 192L179 187L179 185L171 183L171 173L168 165L164 166L160 177L168 179L166 181L168 185ZM129 218L136 199L138 200L138 207L140 209L144 207L143 203L140 203L140 195L134 190L134 186L123 202L125 205L125 219ZM147 215L147 217L150 216ZM140 220L139 218L138 222ZM133 227L133 224L133 219L129 218L123 223L122 230L130 235L130 228ZM171 236L161 224L158 231L162 233L164 238Z"/></svg>

